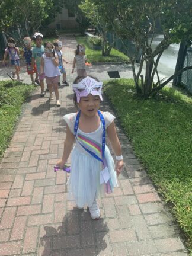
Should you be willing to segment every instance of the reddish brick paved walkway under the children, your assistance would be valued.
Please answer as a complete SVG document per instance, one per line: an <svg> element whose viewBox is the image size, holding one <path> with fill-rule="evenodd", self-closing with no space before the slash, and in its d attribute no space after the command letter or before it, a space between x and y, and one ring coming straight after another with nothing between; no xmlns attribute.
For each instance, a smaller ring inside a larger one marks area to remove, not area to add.
<svg viewBox="0 0 192 256"><path fill-rule="evenodd" d="M72 82L76 41L66 37L64 43ZM89 71L100 79L104 74L95 74L94 67ZM92 221L87 209L79 210L68 200L68 177L53 172L53 165L62 156L66 136L62 116L75 108L71 87L59 93L62 106L57 108L48 94L40 98L37 88L0 164L0 256L187 255L174 219L118 124L124 171L119 188L99 200L101 219ZM101 110L113 113L107 101Z"/></svg>

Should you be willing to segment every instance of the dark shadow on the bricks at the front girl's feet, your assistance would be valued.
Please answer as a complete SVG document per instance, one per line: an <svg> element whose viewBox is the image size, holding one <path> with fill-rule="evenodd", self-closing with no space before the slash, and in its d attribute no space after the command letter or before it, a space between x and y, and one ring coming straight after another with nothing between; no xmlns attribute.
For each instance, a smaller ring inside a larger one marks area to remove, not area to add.
<svg viewBox="0 0 192 256"><path fill-rule="evenodd" d="M75 207L66 213L62 225L44 226L44 231L38 256L96 256L107 248L107 223L103 218L91 220L89 210Z"/></svg>

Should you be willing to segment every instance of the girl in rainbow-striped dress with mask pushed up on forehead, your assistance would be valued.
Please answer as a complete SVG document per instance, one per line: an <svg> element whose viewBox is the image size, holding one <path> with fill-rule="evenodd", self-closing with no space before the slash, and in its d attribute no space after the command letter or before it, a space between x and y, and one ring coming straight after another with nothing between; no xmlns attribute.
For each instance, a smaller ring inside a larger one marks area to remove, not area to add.
<svg viewBox="0 0 192 256"><path fill-rule="evenodd" d="M91 76L78 76L72 85L74 101L78 113L66 114L66 139L62 159L57 162L62 169L75 146L71 156L71 175L68 181L69 193L75 198L79 208L89 207L91 218L100 218L97 204L98 196L113 192L117 187L117 175L123 168L121 146L114 125L114 116L99 110L103 83ZM107 132L116 165L105 144Z"/></svg>

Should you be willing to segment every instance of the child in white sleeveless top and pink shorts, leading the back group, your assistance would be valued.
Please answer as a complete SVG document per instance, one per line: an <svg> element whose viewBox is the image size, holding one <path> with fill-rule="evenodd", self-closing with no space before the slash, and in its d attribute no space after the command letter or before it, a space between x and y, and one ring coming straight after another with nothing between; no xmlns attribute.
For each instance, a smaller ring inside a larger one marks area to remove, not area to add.
<svg viewBox="0 0 192 256"><path fill-rule="evenodd" d="M54 46L50 41L44 43L44 53L41 57L40 75L45 75L47 87L50 92L49 100L53 100L52 90L55 91L56 106L60 107L58 82L61 75L59 70L59 60L55 53Z"/></svg>

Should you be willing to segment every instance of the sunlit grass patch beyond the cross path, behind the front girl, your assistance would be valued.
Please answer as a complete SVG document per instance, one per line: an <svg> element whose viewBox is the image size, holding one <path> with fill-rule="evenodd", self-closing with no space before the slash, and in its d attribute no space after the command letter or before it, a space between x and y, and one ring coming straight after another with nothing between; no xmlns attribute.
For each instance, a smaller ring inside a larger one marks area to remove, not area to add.
<svg viewBox="0 0 192 256"><path fill-rule="evenodd" d="M94 62L123 62L128 63L129 58L124 55L124 53L119 52L116 49L112 49L110 52L110 56L102 56L101 50L92 50L91 47L89 47L89 44L87 43L86 37L83 36L76 36L76 41L79 44L84 44L86 47L85 54L87 56L88 62L94 63Z"/></svg>

